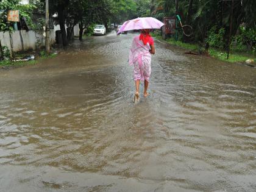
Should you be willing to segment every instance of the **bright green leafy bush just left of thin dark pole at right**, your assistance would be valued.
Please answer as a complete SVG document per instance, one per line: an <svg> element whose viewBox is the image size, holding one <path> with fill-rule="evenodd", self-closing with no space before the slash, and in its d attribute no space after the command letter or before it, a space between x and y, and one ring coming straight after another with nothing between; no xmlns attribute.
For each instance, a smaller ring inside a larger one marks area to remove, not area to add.
<svg viewBox="0 0 256 192"><path fill-rule="evenodd" d="M224 40L224 34L225 29L221 28L219 30L216 29L216 26L213 26L212 29L208 32L208 37L206 39L206 42L210 44L210 46L213 46L215 48L222 49L224 48L225 40Z"/></svg>

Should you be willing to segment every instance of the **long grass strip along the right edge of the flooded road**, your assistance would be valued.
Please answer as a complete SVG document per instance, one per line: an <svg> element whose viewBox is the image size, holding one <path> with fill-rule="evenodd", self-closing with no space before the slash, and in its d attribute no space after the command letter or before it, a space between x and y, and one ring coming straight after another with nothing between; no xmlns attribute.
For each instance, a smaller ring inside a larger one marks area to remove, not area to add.
<svg viewBox="0 0 256 192"><path fill-rule="evenodd" d="M165 41L168 44L172 44L174 46L179 46L181 48L189 49L190 51L194 51L194 52L202 51L202 47L200 47L198 44L183 43L182 41L176 41L173 38L168 38L166 40L162 40L162 36L155 35L155 34L152 34L152 36L157 38L158 40ZM214 48L209 48L208 53L209 53L209 55L211 55L212 57L215 57L216 59L223 60L225 62L231 62L231 63L245 62L250 57L251 58L255 57L252 54L250 54L249 56L245 56L244 54L248 54L247 52L240 52L240 53L231 52L229 54L229 59L227 59L226 51L222 51L222 50L218 50L218 49L214 49Z"/></svg>

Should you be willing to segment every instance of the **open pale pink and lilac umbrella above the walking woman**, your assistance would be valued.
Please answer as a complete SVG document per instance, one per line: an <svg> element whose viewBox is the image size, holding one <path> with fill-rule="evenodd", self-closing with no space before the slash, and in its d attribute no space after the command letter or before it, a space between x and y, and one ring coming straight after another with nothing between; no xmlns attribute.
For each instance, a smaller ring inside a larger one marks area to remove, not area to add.
<svg viewBox="0 0 256 192"><path fill-rule="evenodd" d="M152 17L140 17L134 20L124 22L122 27L118 30L118 34L126 30L138 29L160 29L164 24Z"/></svg>

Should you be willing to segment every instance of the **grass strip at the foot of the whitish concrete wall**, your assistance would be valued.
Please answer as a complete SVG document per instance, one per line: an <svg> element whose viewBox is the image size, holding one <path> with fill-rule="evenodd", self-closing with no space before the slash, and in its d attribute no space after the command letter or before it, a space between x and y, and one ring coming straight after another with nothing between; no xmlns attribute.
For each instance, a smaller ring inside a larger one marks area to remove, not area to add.
<svg viewBox="0 0 256 192"><path fill-rule="evenodd" d="M54 58L56 54L44 54L43 51L40 52L41 56L38 56L36 60L28 60L28 61L18 61L14 62L12 60L3 60L0 62L0 68L16 68L16 67L21 67L25 65L35 65L38 62L40 62L43 59L50 59ZM24 54L15 54L16 57L24 57Z"/></svg>

